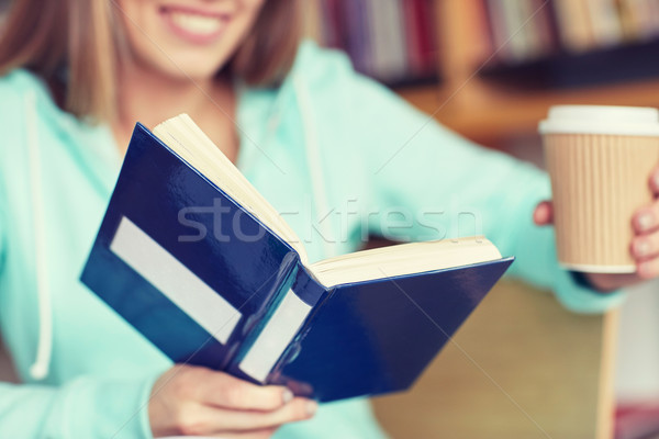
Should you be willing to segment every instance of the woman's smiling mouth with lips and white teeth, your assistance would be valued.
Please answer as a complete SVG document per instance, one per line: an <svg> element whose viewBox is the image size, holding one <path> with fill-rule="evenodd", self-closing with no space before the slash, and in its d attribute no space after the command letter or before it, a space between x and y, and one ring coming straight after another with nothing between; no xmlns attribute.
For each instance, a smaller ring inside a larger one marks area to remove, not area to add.
<svg viewBox="0 0 659 439"><path fill-rule="evenodd" d="M187 8L164 8L160 14L175 34L193 44L213 43L228 22L227 15Z"/></svg>

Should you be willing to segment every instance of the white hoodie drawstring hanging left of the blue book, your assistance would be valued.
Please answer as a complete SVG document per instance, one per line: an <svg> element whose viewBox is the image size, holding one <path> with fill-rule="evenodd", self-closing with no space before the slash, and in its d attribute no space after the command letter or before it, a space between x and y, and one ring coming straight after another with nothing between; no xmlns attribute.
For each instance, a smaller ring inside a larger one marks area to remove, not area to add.
<svg viewBox="0 0 659 439"><path fill-rule="evenodd" d="M27 154L30 156L30 190L34 222L34 255L38 301L38 340L36 357L34 363L30 368L30 375L34 380L43 380L48 375L51 356L53 352L53 314L51 308L51 284L48 282L48 270L46 266L45 212L42 192L42 171L38 156L36 94L34 92L25 94L25 122Z"/></svg>

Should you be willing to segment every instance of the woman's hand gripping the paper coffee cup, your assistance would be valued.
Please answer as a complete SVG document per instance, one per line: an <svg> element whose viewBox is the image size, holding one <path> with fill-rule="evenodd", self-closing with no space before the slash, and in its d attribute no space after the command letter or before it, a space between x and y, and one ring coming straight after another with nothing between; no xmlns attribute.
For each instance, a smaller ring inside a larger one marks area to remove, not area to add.
<svg viewBox="0 0 659 439"><path fill-rule="evenodd" d="M635 236L629 245L629 252L636 261L636 273L585 273L591 284L600 291L613 291L659 277L659 168L652 171L649 187L655 200L636 211L632 217ZM549 201L539 203L533 213L537 225L551 224L552 216Z"/></svg>

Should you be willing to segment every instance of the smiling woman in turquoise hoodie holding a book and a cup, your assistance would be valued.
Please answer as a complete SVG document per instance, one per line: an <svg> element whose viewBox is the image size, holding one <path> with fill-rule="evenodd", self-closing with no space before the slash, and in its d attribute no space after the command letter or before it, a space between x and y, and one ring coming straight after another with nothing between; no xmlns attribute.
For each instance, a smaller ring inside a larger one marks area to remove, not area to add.
<svg viewBox="0 0 659 439"><path fill-rule="evenodd" d="M0 384L1 437L382 437L366 401L317 408L172 365L79 282L137 121L189 113L280 212L299 213L287 221L311 259L357 249L367 229L455 236L468 213L517 256L513 274L566 306L621 302L589 285L633 279L578 283L558 267L551 229L533 222L543 172L299 45L297 20L293 0L14 0L0 40L0 328L23 384ZM541 204L536 222L550 213ZM634 224L639 273L654 277L659 206Z"/></svg>

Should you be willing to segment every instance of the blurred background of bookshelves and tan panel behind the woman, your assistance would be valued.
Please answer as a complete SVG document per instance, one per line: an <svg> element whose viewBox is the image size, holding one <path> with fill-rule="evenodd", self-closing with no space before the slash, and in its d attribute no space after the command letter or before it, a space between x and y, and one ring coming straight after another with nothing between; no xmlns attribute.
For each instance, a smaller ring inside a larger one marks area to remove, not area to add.
<svg viewBox="0 0 659 439"><path fill-rule="evenodd" d="M463 136L539 167L550 105L659 106L659 0L302 3L308 37ZM608 316L576 316L525 289L498 285L411 395L375 402L392 436L610 438L616 419L618 439L659 438L659 282ZM1 353L0 379L13 380Z"/></svg>

